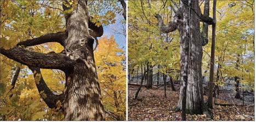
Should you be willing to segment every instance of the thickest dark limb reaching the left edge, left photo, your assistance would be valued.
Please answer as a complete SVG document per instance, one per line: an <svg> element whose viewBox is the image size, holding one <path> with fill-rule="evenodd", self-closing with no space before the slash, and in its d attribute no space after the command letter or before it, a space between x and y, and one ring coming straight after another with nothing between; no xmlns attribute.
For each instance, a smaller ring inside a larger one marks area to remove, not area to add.
<svg viewBox="0 0 256 122"><path fill-rule="evenodd" d="M3 48L0 49L1 54L7 56L9 59L13 59L27 66L48 69L61 69L65 71L67 68L72 68L75 64L75 62L72 61L69 57L60 53L42 54L25 50L16 46L8 50Z"/></svg>

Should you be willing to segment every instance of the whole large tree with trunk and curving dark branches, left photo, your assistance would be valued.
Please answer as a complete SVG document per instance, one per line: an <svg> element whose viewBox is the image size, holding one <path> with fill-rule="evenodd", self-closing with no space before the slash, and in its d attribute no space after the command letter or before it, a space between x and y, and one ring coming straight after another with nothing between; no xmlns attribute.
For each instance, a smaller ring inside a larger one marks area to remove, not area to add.
<svg viewBox="0 0 256 122"><path fill-rule="evenodd" d="M58 103L61 103L60 110L65 113L65 120L105 120L92 38L103 35L103 26L96 26L92 22L87 1L76 1L73 4L62 1L62 8L67 11L65 31L28 39L10 49L1 47L1 54L29 66L38 91L47 96L42 97L44 102L49 108L57 108ZM48 42L60 43L64 50L61 53L43 54L26 49ZM40 68L60 69L65 72L64 94L55 95L50 91Z"/></svg>

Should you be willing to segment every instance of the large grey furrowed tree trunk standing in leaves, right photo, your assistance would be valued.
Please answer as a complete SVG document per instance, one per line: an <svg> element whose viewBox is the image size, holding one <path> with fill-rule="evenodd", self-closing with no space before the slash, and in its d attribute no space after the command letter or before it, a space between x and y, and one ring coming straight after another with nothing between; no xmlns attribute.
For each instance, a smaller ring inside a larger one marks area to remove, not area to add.
<svg viewBox="0 0 256 122"><path fill-rule="evenodd" d="M180 111L182 108L182 101L186 98L186 113L190 114L206 114L207 117L211 117L207 107L203 103L202 92L202 42L200 38L200 20L201 11L198 1L190 1L191 5L186 2L181 2L181 7L178 11L181 11L181 15L175 15L174 20L177 21L177 27L180 37L180 77L183 86L180 89L179 102L176 107L176 111ZM191 9L189 9L191 8ZM190 11L190 12L189 12ZM189 14L190 13L190 14ZM187 23L189 19L189 23ZM159 21L160 20L160 21ZM207 21L205 21L207 22ZM211 21L213 22L213 20ZM211 24L209 22L209 24ZM175 23L175 22L173 22ZM161 24L161 19L158 19L158 24ZM190 25L189 25L190 24ZM161 27L161 25L159 25ZM187 33L189 31L189 34ZM164 31L166 33L168 31ZM189 36L188 36L189 35ZM190 43L189 43L190 42ZM189 49L189 50L188 50ZM187 63L189 61L189 63ZM184 90L187 80L187 90ZM186 91L186 92L185 92ZM184 104L183 104L184 105Z"/></svg>

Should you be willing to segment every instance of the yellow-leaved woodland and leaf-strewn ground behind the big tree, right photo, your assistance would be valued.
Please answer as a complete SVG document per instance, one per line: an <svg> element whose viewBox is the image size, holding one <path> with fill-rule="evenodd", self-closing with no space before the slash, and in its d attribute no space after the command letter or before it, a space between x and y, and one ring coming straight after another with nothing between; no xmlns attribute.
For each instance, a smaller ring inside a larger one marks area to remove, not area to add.
<svg viewBox="0 0 256 122"><path fill-rule="evenodd" d="M181 120L180 112L174 112L182 84L179 33L161 33L155 18L160 14L167 25L179 2L129 1L128 120ZM204 1L199 4L203 13ZM210 1L209 16L212 5ZM208 33L202 56L204 100L209 90L212 26ZM254 120L254 53L254 1L217 1L213 118L187 114L187 120ZM143 87L136 98L141 78Z"/></svg>

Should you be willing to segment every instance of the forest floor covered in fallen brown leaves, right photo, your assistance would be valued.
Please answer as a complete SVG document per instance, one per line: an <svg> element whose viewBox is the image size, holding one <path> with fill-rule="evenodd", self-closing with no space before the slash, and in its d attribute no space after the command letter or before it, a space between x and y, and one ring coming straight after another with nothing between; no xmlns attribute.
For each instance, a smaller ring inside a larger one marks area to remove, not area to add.
<svg viewBox="0 0 256 122"><path fill-rule="evenodd" d="M164 97L164 88L153 86L152 89L141 88L137 100L134 100L135 92L139 86L128 86L128 120L181 120L181 112L174 112L179 101L179 91L172 91L167 87L167 98ZM157 89L156 89L157 88ZM179 89L177 86L176 89ZM227 94L225 94L227 95ZM231 95L232 96L232 95ZM227 96L227 97L230 97ZM220 94L220 98L225 98ZM204 96L206 100L206 96ZM241 101L218 99L221 104L240 104ZM248 120L254 121L254 102L246 103L247 106L219 106L214 105L213 119L206 115L186 114L187 120ZM241 105L241 104L240 104Z"/></svg>

